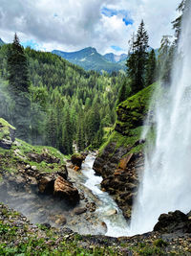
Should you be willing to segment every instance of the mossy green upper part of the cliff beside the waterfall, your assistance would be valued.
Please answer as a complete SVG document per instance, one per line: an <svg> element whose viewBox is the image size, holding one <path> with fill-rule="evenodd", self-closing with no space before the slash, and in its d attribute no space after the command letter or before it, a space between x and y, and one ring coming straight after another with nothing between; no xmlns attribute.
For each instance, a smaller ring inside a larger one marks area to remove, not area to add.
<svg viewBox="0 0 191 256"><path fill-rule="evenodd" d="M101 146L100 153L111 142L116 142L116 148L121 146L132 148L129 153L142 150L143 144L137 146L135 144L140 138L155 87L156 83L144 88L117 106L116 128Z"/></svg>

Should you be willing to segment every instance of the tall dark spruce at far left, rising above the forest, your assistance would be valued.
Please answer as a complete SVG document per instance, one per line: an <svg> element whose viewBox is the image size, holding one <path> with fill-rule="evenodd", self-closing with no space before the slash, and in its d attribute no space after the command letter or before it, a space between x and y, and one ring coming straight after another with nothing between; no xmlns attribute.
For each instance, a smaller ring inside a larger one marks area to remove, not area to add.
<svg viewBox="0 0 191 256"><path fill-rule="evenodd" d="M30 96L28 62L18 36L14 35L8 55L9 86L14 103L12 123L16 128L16 136L30 140Z"/></svg>

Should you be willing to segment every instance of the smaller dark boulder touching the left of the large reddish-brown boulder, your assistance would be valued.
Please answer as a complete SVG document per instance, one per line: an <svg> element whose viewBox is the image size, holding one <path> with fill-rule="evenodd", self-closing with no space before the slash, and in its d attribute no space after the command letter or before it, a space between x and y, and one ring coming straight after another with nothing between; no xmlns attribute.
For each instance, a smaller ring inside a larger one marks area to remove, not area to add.
<svg viewBox="0 0 191 256"><path fill-rule="evenodd" d="M54 179L52 176L42 176L38 182L39 192L42 194L53 195Z"/></svg>

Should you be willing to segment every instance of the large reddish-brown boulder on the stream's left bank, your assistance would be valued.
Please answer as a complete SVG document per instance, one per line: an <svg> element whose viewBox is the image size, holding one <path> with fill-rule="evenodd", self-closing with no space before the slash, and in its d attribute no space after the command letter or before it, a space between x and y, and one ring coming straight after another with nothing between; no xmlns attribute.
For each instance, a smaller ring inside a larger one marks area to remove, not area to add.
<svg viewBox="0 0 191 256"><path fill-rule="evenodd" d="M72 204L79 201L79 193L73 184L63 177L58 176L53 186L53 195L57 198L64 198Z"/></svg>

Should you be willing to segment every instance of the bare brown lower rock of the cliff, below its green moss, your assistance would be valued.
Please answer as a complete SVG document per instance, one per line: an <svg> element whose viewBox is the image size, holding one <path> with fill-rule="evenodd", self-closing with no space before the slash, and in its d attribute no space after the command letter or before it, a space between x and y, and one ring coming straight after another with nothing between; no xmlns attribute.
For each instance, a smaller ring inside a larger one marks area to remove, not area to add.
<svg viewBox="0 0 191 256"><path fill-rule="evenodd" d="M103 177L102 190L114 197L127 219L131 217L133 199L138 191L138 174L144 163L142 153L130 153L130 150L128 147L116 149L116 143L110 143L96 157L93 166L96 174Z"/></svg>

